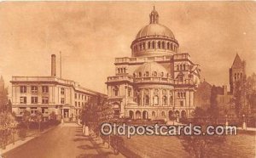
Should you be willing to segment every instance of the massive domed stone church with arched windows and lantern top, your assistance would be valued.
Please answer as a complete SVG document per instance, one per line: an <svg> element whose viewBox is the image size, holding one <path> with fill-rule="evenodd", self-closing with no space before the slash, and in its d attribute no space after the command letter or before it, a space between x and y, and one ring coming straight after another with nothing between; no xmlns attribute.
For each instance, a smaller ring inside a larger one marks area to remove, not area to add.
<svg viewBox="0 0 256 158"><path fill-rule="evenodd" d="M160 24L153 9L149 24L131 42L131 57L116 58L116 74L108 76L108 100L115 116L151 120L191 116L200 70L178 48L174 34Z"/></svg>

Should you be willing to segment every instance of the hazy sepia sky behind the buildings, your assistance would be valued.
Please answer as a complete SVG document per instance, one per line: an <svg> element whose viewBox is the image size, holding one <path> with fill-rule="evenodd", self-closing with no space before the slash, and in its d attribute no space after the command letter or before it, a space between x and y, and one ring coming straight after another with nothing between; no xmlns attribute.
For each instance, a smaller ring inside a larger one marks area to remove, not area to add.
<svg viewBox="0 0 256 158"><path fill-rule="evenodd" d="M107 93L114 58L131 56L154 5L180 50L201 65L202 80L228 85L236 52L247 75L256 72L255 2L4 2L0 75L8 83L11 76L50 76L50 54L59 62L61 51L63 78Z"/></svg>

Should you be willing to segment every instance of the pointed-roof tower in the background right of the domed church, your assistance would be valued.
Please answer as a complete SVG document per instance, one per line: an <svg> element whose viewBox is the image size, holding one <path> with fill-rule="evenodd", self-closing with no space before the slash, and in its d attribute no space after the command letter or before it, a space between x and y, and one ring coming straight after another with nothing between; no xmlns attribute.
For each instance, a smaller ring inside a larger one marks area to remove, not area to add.
<svg viewBox="0 0 256 158"><path fill-rule="evenodd" d="M230 68L230 93L234 93L236 82L244 82L246 78L245 61L241 61L238 54L234 59L233 65Z"/></svg>

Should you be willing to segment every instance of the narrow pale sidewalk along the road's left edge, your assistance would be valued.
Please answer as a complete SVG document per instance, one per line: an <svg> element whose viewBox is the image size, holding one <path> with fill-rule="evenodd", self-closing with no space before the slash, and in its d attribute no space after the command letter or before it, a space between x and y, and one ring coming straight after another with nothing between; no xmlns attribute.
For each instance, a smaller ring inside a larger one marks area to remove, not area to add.
<svg viewBox="0 0 256 158"><path fill-rule="evenodd" d="M17 141L15 141L15 144L8 144L5 148L5 150L0 149L0 158L1 155L9 152L10 150L14 150L15 148L19 147L22 144L26 144L27 142L29 142L30 140L32 140L33 138L37 138L38 136L40 136L41 134L47 133L49 130L53 129L54 127L49 127L48 129L44 130L41 133L33 133L31 135L26 136L25 140L21 140L18 139Z"/></svg>

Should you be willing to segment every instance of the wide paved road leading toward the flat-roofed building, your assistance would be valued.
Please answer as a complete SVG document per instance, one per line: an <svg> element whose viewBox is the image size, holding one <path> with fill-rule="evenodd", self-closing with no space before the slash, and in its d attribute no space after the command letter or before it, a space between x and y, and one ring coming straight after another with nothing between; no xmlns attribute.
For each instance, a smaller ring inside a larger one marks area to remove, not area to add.
<svg viewBox="0 0 256 158"><path fill-rule="evenodd" d="M11 150L4 158L90 158L120 157L101 150L92 144L91 138L82 135L81 127L75 123L65 123L55 129L34 138L15 150Z"/></svg>

